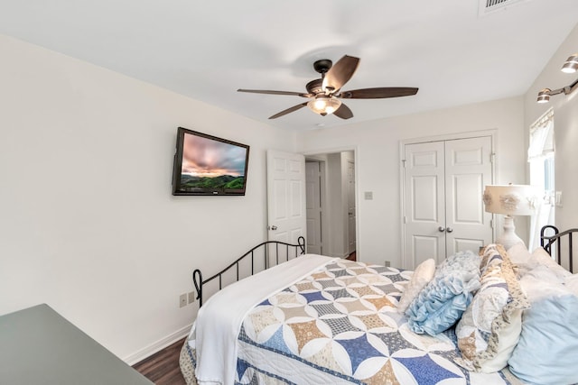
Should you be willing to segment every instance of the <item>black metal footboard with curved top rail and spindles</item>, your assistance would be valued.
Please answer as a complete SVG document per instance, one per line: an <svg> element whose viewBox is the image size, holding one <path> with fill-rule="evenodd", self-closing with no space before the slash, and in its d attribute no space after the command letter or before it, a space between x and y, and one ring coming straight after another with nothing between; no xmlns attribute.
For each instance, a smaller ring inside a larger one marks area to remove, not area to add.
<svg viewBox="0 0 578 385"><path fill-rule="evenodd" d="M225 269L220 270L217 274L211 276L210 278L208 278L207 280L203 280L202 279L202 273L200 272L199 269L195 269L192 272L192 282L195 285L195 290L197 291L197 299L199 299L199 307L202 306L202 286L206 283L209 283L211 280L215 280L216 278L219 278L219 290L223 289L223 280L222 280L222 276L224 273L226 273L228 270L232 269L233 267L237 268L237 280L239 280L239 270L238 270L238 266L239 266L239 262L243 261L245 258L247 257L251 257L251 274L253 275L255 274L255 253L260 249L263 248L263 255L265 258L265 269L269 268L269 257L270 257L270 245L274 245L275 249L273 254L275 255L275 261L276 264L279 264L279 248L281 247L282 250L284 249L285 251L285 261L289 261L289 256L291 255L289 251L293 251L293 255L294 257L298 257L300 255L303 255L305 253L305 238L303 238L303 236L300 236L299 238L297 238L297 243L296 244L292 244L292 243L284 243L284 242L279 242L279 241L266 241L264 243L259 243L257 244L254 248L252 248L251 250L249 250L248 252L246 252L245 254L241 255L237 261L234 261L233 263L231 263L230 265L228 265Z"/></svg>

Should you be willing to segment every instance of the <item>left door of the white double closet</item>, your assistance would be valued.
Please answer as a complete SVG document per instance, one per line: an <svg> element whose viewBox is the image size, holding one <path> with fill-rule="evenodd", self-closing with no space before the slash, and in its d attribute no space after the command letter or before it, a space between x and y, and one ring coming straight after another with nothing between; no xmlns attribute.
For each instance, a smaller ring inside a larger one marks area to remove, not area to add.
<svg viewBox="0 0 578 385"><path fill-rule="evenodd" d="M405 146L406 267L445 256L444 144Z"/></svg>

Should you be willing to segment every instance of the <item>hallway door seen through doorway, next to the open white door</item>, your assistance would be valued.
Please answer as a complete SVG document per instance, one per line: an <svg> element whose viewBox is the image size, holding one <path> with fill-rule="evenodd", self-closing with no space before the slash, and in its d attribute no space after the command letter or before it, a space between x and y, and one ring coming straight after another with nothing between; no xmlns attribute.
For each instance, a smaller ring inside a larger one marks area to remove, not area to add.
<svg viewBox="0 0 578 385"><path fill-rule="evenodd" d="M305 210L307 216L307 252L322 254L321 164L305 162Z"/></svg>

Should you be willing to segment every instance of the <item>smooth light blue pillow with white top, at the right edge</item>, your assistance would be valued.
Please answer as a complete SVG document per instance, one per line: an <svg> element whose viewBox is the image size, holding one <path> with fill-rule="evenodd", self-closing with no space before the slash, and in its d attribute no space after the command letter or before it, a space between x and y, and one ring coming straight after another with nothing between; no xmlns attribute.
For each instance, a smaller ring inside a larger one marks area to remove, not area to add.
<svg viewBox="0 0 578 385"><path fill-rule="evenodd" d="M578 297L562 284L533 276L523 277L520 284L531 307L524 310L522 334L508 360L509 370L527 383L578 383Z"/></svg>

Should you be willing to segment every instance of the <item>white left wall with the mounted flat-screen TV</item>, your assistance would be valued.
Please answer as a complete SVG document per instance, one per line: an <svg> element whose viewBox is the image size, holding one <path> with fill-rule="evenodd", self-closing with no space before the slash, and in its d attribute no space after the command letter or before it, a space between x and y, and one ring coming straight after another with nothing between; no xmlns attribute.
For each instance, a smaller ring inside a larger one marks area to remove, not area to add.
<svg viewBox="0 0 578 385"><path fill-rule="evenodd" d="M0 314L48 303L135 359L191 324L191 270L265 238L265 151L295 134L1 35L0 57ZM171 196L179 125L251 146L246 197Z"/></svg>

